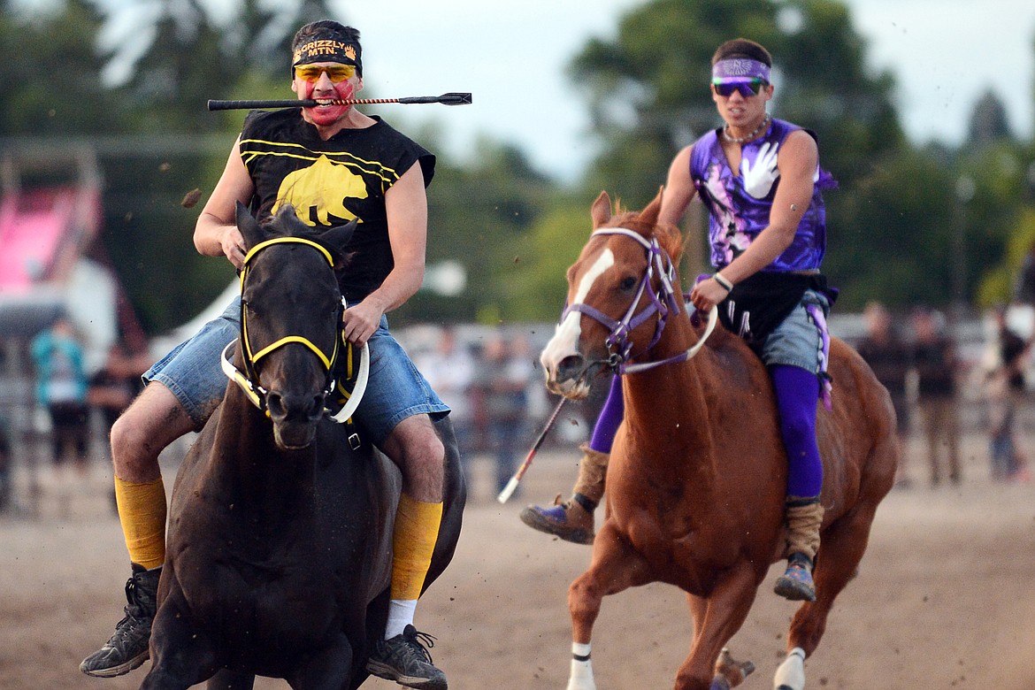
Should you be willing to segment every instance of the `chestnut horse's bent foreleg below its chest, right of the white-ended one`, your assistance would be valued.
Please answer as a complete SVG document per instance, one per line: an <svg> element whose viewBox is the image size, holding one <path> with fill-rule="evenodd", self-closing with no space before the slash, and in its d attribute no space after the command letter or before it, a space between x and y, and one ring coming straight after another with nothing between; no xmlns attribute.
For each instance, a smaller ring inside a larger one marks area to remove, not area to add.
<svg viewBox="0 0 1035 690"><path fill-rule="evenodd" d="M719 674L716 664L726 643L743 625L765 573L749 563L734 566L708 597L689 597L693 641L676 674L677 690L716 690L739 685L753 670L749 662L732 662Z"/></svg>

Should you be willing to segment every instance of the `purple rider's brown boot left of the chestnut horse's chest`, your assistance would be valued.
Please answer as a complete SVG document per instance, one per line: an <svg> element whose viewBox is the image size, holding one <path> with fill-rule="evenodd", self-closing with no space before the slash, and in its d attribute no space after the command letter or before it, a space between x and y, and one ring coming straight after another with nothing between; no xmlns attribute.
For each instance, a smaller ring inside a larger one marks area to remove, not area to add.
<svg viewBox="0 0 1035 690"><path fill-rule="evenodd" d="M552 534L575 544L593 543L593 511L603 498L610 455L581 446L579 479L571 498L562 502L560 494L549 508L531 505L521 512L521 519L533 530Z"/></svg>

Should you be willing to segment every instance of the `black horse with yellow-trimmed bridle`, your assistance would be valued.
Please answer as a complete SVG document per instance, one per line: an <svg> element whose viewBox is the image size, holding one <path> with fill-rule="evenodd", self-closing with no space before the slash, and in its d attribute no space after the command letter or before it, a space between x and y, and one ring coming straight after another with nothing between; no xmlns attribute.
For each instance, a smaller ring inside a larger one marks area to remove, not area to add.
<svg viewBox="0 0 1035 690"><path fill-rule="evenodd" d="M325 412L339 364L352 226L314 234L283 209L260 226L238 205L248 248L242 321L221 406L173 488L168 554L142 688L356 688L383 634L397 469ZM229 364L229 362L227 362ZM445 570L466 499L448 418L442 527L424 588Z"/></svg>

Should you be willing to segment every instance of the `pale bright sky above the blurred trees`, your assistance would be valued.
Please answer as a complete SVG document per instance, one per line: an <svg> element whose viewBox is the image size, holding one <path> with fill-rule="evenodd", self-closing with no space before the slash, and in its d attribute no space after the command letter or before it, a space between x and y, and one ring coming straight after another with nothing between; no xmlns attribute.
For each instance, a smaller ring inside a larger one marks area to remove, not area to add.
<svg viewBox="0 0 1035 690"><path fill-rule="evenodd" d="M103 1L121 7L124 18L155 6L146 0ZM201 1L216 14L230 16L236 6L233 0ZM867 41L867 65L895 76L895 102L912 141L962 142L974 103L988 88L1005 104L1013 131L1032 136L1031 0L846 1L856 31ZM589 37L613 37L618 18L645 0L329 4L338 12L334 19L362 32L368 95L470 91L474 96L472 106L385 106L367 112L404 129L434 120L446 132L449 152L459 155L470 151L476 137L489 134L524 149L543 172L573 179L594 148L586 96L568 81L565 66ZM127 40L124 27L108 33L108 40ZM219 85L213 85L211 97L226 97Z"/></svg>

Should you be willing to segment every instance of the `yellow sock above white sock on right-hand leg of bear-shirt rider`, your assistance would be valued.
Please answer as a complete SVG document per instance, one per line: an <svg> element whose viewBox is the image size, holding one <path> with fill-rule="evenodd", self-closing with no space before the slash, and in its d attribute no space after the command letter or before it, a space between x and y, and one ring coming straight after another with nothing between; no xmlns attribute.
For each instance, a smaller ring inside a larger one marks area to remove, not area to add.
<svg viewBox="0 0 1035 690"><path fill-rule="evenodd" d="M441 522L441 502L415 501L406 493L400 498L392 534L392 599L415 600L420 596Z"/></svg>

